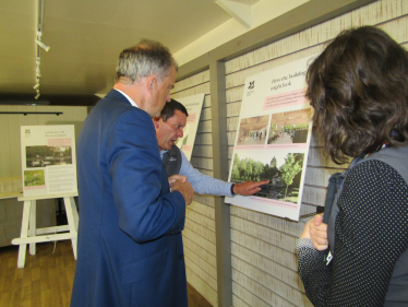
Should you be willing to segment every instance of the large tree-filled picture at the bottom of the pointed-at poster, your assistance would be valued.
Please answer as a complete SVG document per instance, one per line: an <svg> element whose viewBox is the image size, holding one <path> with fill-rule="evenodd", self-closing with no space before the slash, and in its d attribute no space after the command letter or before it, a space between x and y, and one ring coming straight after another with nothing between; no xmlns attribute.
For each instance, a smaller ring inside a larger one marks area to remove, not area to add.
<svg viewBox="0 0 408 307"><path fill-rule="evenodd" d="M230 181L269 180L253 197L298 203L303 158L303 153L240 151L233 156Z"/></svg>

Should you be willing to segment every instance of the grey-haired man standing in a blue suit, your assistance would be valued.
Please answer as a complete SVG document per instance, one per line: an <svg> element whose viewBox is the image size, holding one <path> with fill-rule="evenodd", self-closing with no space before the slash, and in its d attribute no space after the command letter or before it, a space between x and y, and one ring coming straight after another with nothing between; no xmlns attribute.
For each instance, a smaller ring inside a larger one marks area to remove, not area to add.
<svg viewBox="0 0 408 307"><path fill-rule="evenodd" d="M152 121L176 71L159 43L123 50L113 90L83 125L72 307L188 306L181 231L193 189L177 180L170 191Z"/></svg>

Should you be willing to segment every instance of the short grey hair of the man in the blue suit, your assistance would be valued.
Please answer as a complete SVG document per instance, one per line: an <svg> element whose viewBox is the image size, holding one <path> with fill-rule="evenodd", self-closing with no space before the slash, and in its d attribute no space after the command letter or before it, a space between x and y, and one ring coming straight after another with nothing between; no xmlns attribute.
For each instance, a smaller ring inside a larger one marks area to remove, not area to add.
<svg viewBox="0 0 408 307"><path fill-rule="evenodd" d="M170 74L171 67L177 63L169 49L155 40L142 39L136 46L124 49L116 67L117 80L125 76L132 82L156 75L161 82Z"/></svg>

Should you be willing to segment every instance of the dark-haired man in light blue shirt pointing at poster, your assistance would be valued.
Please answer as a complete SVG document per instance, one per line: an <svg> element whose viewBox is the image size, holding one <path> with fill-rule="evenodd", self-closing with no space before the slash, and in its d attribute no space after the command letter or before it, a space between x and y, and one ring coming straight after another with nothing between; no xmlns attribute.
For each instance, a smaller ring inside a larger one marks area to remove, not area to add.
<svg viewBox="0 0 408 307"><path fill-rule="evenodd" d="M268 180L259 182L251 180L242 184L231 184L206 176L195 169L187 160L184 153L175 145L177 140L183 137L183 128L188 116L185 107L171 99L163 108L160 117L154 118L158 147L167 176L183 175L194 191L212 196L252 196L261 190L260 186L268 182Z"/></svg>

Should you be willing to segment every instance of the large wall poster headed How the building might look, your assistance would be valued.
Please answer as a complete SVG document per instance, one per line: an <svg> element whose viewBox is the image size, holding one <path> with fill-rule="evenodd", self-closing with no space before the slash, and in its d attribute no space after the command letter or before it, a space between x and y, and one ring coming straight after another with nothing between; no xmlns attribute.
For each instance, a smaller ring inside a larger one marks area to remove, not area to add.
<svg viewBox="0 0 408 307"><path fill-rule="evenodd" d="M305 73L314 57L245 80L229 181L269 184L251 197L227 197L227 203L299 221L312 131Z"/></svg>

